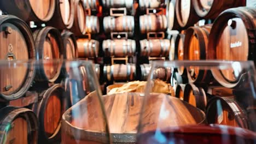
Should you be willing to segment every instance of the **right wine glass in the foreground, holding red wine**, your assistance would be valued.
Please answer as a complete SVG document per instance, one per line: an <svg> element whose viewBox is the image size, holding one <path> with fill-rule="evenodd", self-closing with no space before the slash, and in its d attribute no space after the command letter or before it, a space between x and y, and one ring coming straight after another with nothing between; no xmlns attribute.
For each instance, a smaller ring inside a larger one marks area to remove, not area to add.
<svg viewBox="0 0 256 144"><path fill-rule="evenodd" d="M176 89L175 97L152 93L158 80L155 71L163 67L173 71L183 67L188 75L191 67L210 71L208 75L199 75L210 82L183 83ZM253 62L154 62L136 143L255 143L255 74Z"/></svg>

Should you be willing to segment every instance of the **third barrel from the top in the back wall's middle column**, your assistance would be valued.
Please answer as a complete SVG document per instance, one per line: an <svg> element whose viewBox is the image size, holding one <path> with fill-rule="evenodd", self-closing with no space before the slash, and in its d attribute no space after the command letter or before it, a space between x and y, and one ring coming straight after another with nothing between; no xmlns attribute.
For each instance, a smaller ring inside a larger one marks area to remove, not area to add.
<svg viewBox="0 0 256 144"><path fill-rule="evenodd" d="M102 49L105 56L131 57L136 52L136 41L131 39L103 40Z"/></svg>

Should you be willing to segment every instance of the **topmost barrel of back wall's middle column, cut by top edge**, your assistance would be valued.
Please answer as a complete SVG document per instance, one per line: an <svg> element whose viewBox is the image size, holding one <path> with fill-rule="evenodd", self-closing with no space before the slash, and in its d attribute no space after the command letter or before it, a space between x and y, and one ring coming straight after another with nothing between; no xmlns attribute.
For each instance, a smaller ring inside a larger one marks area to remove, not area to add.
<svg viewBox="0 0 256 144"><path fill-rule="evenodd" d="M102 0L104 8L126 8L128 10L133 8L134 0Z"/></svg>

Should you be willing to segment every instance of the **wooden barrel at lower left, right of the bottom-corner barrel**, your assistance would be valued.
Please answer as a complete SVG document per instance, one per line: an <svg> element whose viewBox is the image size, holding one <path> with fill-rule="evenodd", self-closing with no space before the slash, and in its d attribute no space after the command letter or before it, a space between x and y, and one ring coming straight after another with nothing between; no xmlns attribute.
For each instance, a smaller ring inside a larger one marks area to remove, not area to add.
<svg viewBox="0 0 256 144"><path fill-rule="evenodd" d="M32 107L39 120L39 142L60 141L61 116L65 112L65 90L60 84L53 85L39 94L40 101Z"/></svg>

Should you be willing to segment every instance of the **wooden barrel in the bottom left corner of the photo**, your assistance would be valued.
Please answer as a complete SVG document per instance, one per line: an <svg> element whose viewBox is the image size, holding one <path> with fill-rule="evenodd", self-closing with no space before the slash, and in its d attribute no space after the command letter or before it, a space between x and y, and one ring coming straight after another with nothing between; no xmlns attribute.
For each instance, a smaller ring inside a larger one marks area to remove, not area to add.
<svg viewBox="0 0 256 144"><path fill-rule="evenodd" d="M1 143L37 143L38 121L33 111L7 106L0 112Z"/></svg>

